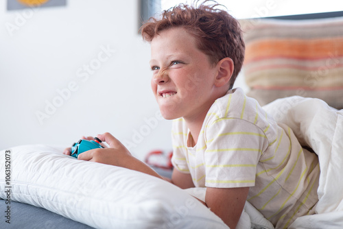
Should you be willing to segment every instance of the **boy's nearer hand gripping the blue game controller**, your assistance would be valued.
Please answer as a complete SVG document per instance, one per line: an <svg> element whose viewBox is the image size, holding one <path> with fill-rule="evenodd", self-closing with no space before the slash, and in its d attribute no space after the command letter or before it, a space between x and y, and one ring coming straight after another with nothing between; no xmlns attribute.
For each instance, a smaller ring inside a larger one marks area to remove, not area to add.
<svg viewBox="0 0 343 229"><path fill-rule="evenodd" d="M78 156L79 160L88 160L119 167L128 167L133 156L128 149L121 144L112 134L105 133L97 135L101 141L110 147L106 149L91 149Z"/></svg>

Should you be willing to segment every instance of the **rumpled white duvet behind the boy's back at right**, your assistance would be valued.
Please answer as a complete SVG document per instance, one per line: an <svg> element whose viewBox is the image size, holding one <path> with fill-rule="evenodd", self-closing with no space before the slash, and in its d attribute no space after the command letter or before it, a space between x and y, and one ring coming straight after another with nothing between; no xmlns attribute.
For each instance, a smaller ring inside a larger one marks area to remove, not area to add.
<svg viewBox="0 0 343 229"><path fill-rule="evenodd" d="M300 217L289 228L343 228L343 110L320 99L289 97L264 107L289 125L302 145L318 154L320 180L316 215Z"/></svg>

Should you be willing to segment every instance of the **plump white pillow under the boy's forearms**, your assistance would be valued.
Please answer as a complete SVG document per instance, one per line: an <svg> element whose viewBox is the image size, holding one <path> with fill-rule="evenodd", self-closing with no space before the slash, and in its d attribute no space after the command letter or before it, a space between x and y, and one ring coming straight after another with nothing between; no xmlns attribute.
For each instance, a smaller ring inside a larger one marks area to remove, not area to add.
<svg viewBox="0 0 343 229"><path fill-rule="evenodd" d="M60 152L44 145L13 147L11 200L94 228L228 228L206 206L169 182ZM0 154L0 197L5 199L5 150Z"/></svg>

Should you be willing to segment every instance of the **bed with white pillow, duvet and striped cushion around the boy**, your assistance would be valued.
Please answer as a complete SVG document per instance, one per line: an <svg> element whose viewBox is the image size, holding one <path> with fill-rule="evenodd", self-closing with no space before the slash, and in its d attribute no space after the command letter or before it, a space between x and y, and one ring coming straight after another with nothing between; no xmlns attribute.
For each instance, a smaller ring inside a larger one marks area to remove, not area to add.
<svg viewBox="0 0 343 229"><path fill-rule="evenodd" d="M343 227L343 15L329 16L335 17L241 21L249 95L320 159L318 214L289 228ZM21 145L0 152L0 228L228 228L194 198L204 199L204 189L178 189L137 171L76 160L62 149ZM246 202L237 228L274 226Z"/></svg>

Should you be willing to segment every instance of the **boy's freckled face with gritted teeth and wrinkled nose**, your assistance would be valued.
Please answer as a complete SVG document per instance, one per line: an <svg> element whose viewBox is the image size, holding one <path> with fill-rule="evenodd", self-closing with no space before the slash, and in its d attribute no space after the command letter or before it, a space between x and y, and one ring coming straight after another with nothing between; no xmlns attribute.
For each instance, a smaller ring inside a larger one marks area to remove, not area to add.
<svg viewBox="0 0 343 229"><path fill-rule="evenodd" d="M151 42L152 91L165 119L204 117L216 99L216 67L184 28L163 30Z"/></svg>

